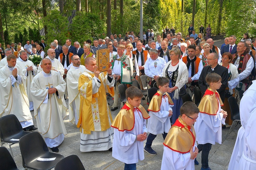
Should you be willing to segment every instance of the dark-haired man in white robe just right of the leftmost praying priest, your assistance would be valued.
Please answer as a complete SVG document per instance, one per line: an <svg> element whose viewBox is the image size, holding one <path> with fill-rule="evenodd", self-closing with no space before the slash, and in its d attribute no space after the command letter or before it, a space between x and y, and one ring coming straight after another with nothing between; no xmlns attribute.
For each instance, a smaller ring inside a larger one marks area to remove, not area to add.
<svg viewBox="0 0 256 170"><path fill-rule="evenodd" d="M32 111L34 107L33 107L32 97L30 93L30 85L35 74L37 74L37 67L33 64L32 61L28 60L27 51L25 50L22 50L19 52L17 65L20 66L20 68L22 68L23 74L27 76L26 87L27 87L27 95L29 99L29 110Z"/></svg>

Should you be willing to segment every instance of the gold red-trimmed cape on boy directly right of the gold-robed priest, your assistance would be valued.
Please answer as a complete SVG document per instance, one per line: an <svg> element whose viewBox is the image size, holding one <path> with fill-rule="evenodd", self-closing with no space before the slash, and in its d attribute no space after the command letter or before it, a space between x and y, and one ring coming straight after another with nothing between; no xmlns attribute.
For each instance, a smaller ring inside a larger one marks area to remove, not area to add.
<svg viewBox="0 0 256 170"><path fill-rule="evenodd" d="M119 113L116 115L111 127L117 128L119 131L132 130L134 128L135 118L133 108L128 102L122 107ZM150 118L147 111L143 106L139 106L138 109L142 113L144 119Z"/></svg>

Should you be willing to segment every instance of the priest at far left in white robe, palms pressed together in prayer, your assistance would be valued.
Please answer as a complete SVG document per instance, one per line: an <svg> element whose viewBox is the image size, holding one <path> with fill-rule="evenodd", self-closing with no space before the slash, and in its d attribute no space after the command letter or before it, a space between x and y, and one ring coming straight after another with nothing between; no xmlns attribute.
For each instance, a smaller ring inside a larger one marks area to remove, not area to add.
<svg viewBox="0 0 256 170"><path fill-rule="evenodd" d="M0 117L14 114L24 130L36 130L29 111L26 93L26 79L22 69L16 65L14 55L6 57L6 64L0 69Z"/></svg>

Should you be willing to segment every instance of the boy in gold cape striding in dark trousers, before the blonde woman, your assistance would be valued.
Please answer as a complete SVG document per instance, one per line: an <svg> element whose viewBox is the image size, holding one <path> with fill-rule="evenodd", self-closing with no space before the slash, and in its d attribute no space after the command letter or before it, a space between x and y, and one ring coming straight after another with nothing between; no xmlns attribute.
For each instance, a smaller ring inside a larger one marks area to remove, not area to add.
<svg viewBox="0 0 256 170"><path fill-rule="evenodd" d="M156 80L159 90L152 97L148 111L150 118L147 121L147 132L150 134L147 137L147 142L144 151L156 155L156 151L151 148L153 140L157 134L162 134L165 140L167 133L171 128L170 117L172 116L173 102L170 95L167 93L170 80L166 77L159 77Z"/></svg>

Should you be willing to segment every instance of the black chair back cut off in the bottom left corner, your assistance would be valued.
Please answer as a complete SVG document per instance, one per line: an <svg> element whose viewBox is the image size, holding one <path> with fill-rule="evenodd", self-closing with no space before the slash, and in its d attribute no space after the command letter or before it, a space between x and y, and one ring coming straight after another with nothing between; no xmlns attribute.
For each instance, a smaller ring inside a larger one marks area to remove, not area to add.
<svg viewBox="0 0 256 170"><path fill-rule="evenodd" d="M0 169L1 170L18 170L12 155L5 147L0 147Z"/></svg>

